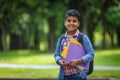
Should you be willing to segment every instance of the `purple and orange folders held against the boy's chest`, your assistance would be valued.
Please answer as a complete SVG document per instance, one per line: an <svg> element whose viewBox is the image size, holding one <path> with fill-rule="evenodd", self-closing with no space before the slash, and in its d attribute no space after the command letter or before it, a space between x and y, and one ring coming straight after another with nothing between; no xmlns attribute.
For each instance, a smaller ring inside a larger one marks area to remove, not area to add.
<svg viewBox="0 0 120 80"><path fill-rule="evenodd" d="M71 38L70 42L67 44L65 49L62 52L62 57L64 58L65 62L70 62L74 59L80 59L82 56L86 55L84 48L80 42L76 39ZM89 69L89 63L86 64L79 64L78 67L80 69Z"/></svg>

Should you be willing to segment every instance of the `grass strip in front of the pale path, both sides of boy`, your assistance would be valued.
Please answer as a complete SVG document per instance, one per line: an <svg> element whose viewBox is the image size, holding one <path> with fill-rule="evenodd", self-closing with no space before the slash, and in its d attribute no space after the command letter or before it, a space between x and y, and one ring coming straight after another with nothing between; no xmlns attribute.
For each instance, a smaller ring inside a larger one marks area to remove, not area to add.
<svg viewBox="0 0 120 80"><path fill-rule="evenodd" d="M0 78L57 78L58 69L0 68ZM110 77L120 79L120 70L94 70L88 78Z"/></svg>

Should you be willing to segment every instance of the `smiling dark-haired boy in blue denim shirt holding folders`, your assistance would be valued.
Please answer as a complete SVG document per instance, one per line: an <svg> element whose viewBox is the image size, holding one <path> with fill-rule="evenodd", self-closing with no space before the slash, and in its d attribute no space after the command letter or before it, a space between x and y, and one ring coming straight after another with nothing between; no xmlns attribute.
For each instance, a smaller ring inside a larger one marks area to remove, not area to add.
<svg viewBox="0 0 120 80"><path fill-rule="evenodd" d="M71 9L66 12L64 26L67 31L59 38L54 54L56 63L60 65L58 80L86 80L88 71L86 69L82 70L83 72L80 74L82 76L80 76L78 75L78 69L76 68L77 65L86 64L94 58L92 44L85 34L83 36L82 44L86 55L67 63L61 56L62 51L65 49L71 38L78 40L78 34L80 34L80 31L78 30L78 27L80 26L80 14L77 10Z"/></svg>

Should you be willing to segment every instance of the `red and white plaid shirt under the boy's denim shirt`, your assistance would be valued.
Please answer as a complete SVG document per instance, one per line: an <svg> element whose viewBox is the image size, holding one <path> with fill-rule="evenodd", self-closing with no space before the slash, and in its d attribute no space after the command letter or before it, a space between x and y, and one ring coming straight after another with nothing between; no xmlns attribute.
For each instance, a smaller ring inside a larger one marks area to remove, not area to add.
<svg viewBox="0 0 120 80"><path fill-rule="evenodd" d="M79 30L77 30L77 31L75 32L74 36L78 36L79 33L80 33ZM73 36L68 36L68 34L67 34L67 32L66 32L66 33L65 33L65 37L66 37L66 40L65 40L65 41L63 42L63 44L62 44L62 49L64 49L64 48L67 46L68 42L70 41L70 39L71 39ZM74 68L74 67L72 67L72 66L70 66L70 65L64 67L64 75L65 75L65 76L69 76L69 75L76 74L76 73L77 73L77 69L76 69L76 68Z"/></svg>

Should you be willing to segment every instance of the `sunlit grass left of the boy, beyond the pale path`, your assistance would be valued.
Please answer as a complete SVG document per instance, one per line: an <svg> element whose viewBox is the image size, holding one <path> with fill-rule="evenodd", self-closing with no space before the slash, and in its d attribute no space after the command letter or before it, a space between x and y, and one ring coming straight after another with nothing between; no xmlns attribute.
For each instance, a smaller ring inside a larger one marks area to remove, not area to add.
<svg viewBox="0 0 120 80"><path fill-rule="evenodd" d="M34 50L0 52L0 63L55 64L53 54Z"/></svg>

